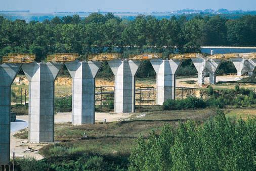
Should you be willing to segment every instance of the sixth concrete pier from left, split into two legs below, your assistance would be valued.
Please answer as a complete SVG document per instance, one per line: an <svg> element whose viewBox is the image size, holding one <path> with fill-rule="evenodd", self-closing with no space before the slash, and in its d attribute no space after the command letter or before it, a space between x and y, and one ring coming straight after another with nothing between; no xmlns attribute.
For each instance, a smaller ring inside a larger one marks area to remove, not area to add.
<svg viewBox="0 0 256 171"><path fill-rule="evenodd" d="M209 73L210 84L216 83L216 71L220 67L222 59L204 59L204 58L191 58L197 72L198 72L198 84L202 86L204 84L204 78Z"/></svg>

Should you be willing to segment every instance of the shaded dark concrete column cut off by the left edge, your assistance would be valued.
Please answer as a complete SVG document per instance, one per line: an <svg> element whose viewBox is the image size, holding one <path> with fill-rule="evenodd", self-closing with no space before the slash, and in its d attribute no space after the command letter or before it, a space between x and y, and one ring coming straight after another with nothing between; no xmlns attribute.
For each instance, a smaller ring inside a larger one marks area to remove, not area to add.
<svg viewBox="0 0 256 171"><path fill-rule="evenodd" d="M0 169L10 161L11 85L21 64L0 65Z"/></svg>

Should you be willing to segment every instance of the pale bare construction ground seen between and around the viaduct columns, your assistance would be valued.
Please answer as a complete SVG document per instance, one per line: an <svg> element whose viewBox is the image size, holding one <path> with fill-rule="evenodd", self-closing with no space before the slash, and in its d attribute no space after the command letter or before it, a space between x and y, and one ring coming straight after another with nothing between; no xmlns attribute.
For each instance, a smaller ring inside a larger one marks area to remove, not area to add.
<svg viewBox="0 0 256 171"><path fill-rule="evenodd" d="M217 76L217 82L221 81L224 82L222 84L216 84L214 88L234 88L236 83L225 83L229 81L238 81L245 76ZM208 82L208 78L206 78L206 84ZM70 77L58 77L55 81L55 95L57 97L71 95L72 89L72 79ZM247 83L239 83L240 86L246 88L256 88L255 84L247 84ZM104 80L104 79L96 79L96 87L99 86L114 86L114 81ZM153 86L156 87L156 79L137 79L136 86ZM177 77L176 80L176 87L187 87L187 88L200 88L197 84L197 78L179 78ZM28 89L28 80L25 76L18 76L14 84L12 86L12 90L16 90L24 88ZM18 93L18 91L17 91ZM13 103L14 104L14 103ZM158 111L159 112L159 111ZM170 111L171 112L171 111ZM227 115L230 117L237 117L240 116L241 118L246 118L247 114L250 116L256 116L255 109L230 109L228 110ZM96 112L96 122L114 122L114 121L122 121L122 120L129 120L131 116L138 116L144 117L144 113L135 113L134 115L130 115L129 113L111 113L111 112ZM28 116L17 116L18 120L23 120L28 122ZM57 113L55 115L55 123L67 123L71 122L71 112L64 112L64 113ZM26 128L27 130L28 128ZM42 156L38 154L38 149L47 145L48 143L28 143L28 140L15 138L13 135L18 131L11 133L11 154L15 151L16 156L23 157L23 156L32 156L36 159L41 159ZM33 152L29 151L29 148L33 149ZM12 155L11 155L12 156Z"/></svg>

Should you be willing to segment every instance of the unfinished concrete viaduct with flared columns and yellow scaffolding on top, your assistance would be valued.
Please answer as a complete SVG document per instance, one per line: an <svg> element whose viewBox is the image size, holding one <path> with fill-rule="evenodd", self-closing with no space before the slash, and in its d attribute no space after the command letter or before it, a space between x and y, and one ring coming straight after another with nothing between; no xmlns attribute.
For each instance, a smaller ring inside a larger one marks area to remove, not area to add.
<svg viewBox="0 0 256 171"><path fill-rule="evenodd" d="M29 141L54 141L54 81L63 65L72 79L72 124L95 122L95 77L103 61L107 61L115 76L115 112L135 111L135 76L143 60L150 60L156 72L157 104L175 99L175 74L182 61L191 59L198 71L198 83L204 83L206 73L210 84L216 82L216 71L223 60L231 60L238 75L252 74L256 53L173 54L163 60L161 54L140 54L121 59L118 54L90 55L88 62L77 61L78 54L54 54L47 63L34 62L33 54L9 54L0 65L0 165L10 162L10 93L20 69L29 80Z"/></svg>

